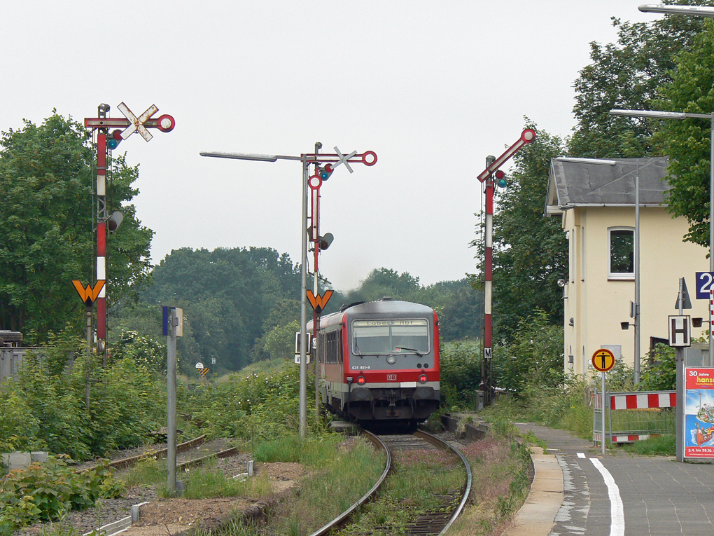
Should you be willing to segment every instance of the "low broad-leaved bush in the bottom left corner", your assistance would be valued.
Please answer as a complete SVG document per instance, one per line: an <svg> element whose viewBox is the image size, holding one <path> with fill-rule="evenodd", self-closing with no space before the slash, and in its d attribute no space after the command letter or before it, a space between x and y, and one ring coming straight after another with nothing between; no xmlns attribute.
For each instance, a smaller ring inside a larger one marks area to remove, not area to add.
<svg viewBox="0 0 714 536"><path fill-rule="evenodd" d="M55 520L70 510L84 510L104 497L124 492L108 465L75 473L64 457L44 464L34 463L0 479L0 534L10 534L24 525Z"/></svg>

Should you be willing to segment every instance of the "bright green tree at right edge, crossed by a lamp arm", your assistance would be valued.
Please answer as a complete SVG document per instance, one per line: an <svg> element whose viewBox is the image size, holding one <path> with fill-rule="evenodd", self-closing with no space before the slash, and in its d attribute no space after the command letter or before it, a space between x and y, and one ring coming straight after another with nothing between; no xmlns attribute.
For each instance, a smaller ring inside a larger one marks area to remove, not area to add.
<svg viewBox="0 0 714 536"><path fill-rule="evenodd" d="M710 114L714 111L714 24L695 36L689 50L676 57L672 80L662 91L659 109ZM689 220L685 240L709 243L710 119L665 120L658 137L670 157L668 211Z"/></svg>

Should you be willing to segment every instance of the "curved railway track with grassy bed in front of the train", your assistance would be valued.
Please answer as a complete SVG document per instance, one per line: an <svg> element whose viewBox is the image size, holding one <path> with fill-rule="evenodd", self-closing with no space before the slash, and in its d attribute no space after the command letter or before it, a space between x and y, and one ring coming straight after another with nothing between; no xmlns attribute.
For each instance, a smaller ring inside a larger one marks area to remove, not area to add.
<svg viewBox="0 0 714 536"><path fill-rule="evenodd" d="M380 487L386 481L388 473L391 471L393 453L406 450L434 449L450 452L451 455L460 460L463 465L464 472L466 472L466 482L461 490L454 490L452 493L447 495L439 495L437 497L439 500L439 507L428 512L423 512L411 523L411 525L405 527L403 534L441 535L446 532L454 520L461 515L461 511L463 510L464 505L466 505L466 500L471 492L471 467L469 467L468 461L461 454L461 452L448 442L442 440L440 437L421 431L414 432L411 435L373 435L371 432L366 431L363 432L363 434L366 435L371 442L373 442L378 450L383 450L383 452L386 453L385 468L381 477L372 489L366 493L366 495L361 497L360 500L351 505L351 507L349 507L341 515L338 515L338 517L329 522L327 525L321 527L321 529L316 532L313 532L311 536L323 536L336 531L338 527L342 527L346 522L348 522L348 520L350 520L352 515L358 510L359 507L361 507L361 505L365 504L378 493ZM455 502L458 502L458 506L452 510ZM388 532L388 527L375 527L372 533L383 534L384 532Z"/></svg>

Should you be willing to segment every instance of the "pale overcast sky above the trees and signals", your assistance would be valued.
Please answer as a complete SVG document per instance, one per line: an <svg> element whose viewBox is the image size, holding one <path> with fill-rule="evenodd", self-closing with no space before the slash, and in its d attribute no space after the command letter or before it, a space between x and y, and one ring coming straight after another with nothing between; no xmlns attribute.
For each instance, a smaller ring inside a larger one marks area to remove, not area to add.
<svg viewBox="0 0 714 536"><path fill-rule="evenodd" d="M83 121L101 103L111 117L121 102L174 116L173 131L115 150L139 164L154 264L181 247L301 259L300 162L199 152L373 151L374 166L337 167L321 187L321 234L335 237L323 277L341 291L381 267L461 279L478 270L486 157L518 140L524 116L567 137L590 42L615 41L613 16L660 16L642 3L4 0L0 130L53 109Z"/></svg>

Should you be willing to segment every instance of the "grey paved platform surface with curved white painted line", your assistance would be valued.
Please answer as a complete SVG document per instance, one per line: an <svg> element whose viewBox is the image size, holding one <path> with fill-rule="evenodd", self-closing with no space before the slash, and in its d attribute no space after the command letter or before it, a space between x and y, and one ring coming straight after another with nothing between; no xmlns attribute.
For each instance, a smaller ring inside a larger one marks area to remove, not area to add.
<svg viewBox="0 0 714 536"><path fill-rule="evenodd" d="M562 470L563 500L547 531L541 520L529 532L506 534L714 535L714 465L633 456L616 447L603 456L592 442L563 430L516 426L547 443Z"/></svg>

